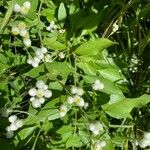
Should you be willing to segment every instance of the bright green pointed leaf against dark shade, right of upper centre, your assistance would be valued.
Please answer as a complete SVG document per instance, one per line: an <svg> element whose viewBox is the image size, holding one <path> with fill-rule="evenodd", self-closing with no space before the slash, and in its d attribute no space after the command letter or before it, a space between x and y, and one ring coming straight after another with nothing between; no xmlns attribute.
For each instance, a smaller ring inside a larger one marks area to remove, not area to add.
<svg viewBox="0 0 150 150"><path fill-rule="evenodd" d="M105 38L90 40L79 46L75 50L75 53L78 55L86 55L86 56L97 55L101 51L103 51L104 49L108 48L113 44L115 43Z"/></svg>

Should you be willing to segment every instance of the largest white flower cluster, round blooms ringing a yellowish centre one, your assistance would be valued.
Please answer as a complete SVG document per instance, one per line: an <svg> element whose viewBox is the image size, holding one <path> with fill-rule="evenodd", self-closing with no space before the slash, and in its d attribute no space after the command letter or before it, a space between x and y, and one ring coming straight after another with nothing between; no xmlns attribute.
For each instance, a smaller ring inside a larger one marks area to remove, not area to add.
<svg viewBox="0 0 150 150"><path fill-rule="evenodd" d="M36 82L36 87L29 90L30 101L34 108L39 108L45 102L46 98L52 97L52 91L48 90L48 85L44 81Z"/></svg>

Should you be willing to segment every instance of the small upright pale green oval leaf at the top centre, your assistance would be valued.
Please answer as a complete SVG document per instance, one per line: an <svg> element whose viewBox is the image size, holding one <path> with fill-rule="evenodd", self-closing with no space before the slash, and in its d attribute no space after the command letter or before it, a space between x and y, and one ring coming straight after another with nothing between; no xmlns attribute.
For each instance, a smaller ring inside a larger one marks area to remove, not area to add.
<svg viewBox="0 0 150 150"><path fill-rule="evenodd" d="M66 8L64 3L60 3L58 8L58 20L60 21L61 27L63 27L65 19L67 17Z"/></svg>

